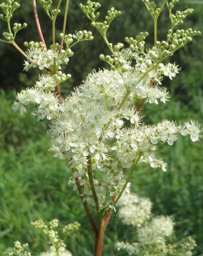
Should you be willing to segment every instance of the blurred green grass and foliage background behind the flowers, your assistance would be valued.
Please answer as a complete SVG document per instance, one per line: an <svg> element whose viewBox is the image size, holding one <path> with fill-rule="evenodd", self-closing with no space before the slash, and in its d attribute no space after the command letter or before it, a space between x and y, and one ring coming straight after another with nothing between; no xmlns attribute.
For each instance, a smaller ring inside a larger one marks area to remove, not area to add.
<svg viewBox="0 0 203 256"><path fill-rule="evenodd" d="M2 0L0 2L3 2ZM29 28L21 32L17 41L38 40L32 14L32 1L19 1L21 8L14 15L15 21L27 22ZM78 8L79 2L70 1L68 32L88 29L94 33L93 42L84 42L75 48L75 56L70 59L67 73L73 78L62 87L67 94L91 72L92 68L102 68L99 54L108 53L100 36L89 26ZM113 43L123 42L126 36L135 36L139 31L149 31L148 44L153 42L152 20L141 0L100 1L105 10L111 6L122 10L123 16L112 24L109 39ZM193 27L203 31L203 2L180 1L178 8L194 8L183 28ZM39 5L40 20L47 42L50 42L50 24ZM62 18L57 26L62 27ZM163 12L159 22L159 39L165 38L170 27L167 13ZM4 31L0 22L0 32ZM59 30L58 30L59 33ZM203 125L203 38L195 38L192 44L178 52L173 61L183 71L172 84L165 80L171 91L168 104L153 106L146 104L145 121L148 123L169 120L198 120ZM47 123L36 123L31 114L20 117L14 113L11 104L23 87L32 86L37 77L36 71L22 72L23 59L10 45L0 44L0 255L11 246L13 241L28 242L34 253L47 248L42 235L30 226L31 220L58 218L64 224L77 220L81 229L67 242L68 249L74 256L91 256L93 239L90 225L83 211L78 194L68 184L70 169L68 163L51 158L49 137L44 136ZM166 173L148 167L139 168L134 175L133 190L150 197L153 212L156 215L173 215L176 221L176 237L182 240L192 235L198 244L196 254L203 252L203 158L202 142L192 143L188 138L181 138L173 147L161 146L164 159L169 164ZM133 231L133 230L131 230ZM126 229L114 216L106 230L104 256L122 255L116 252L114 243L118 240L130 241L130 229Z"/></svg>

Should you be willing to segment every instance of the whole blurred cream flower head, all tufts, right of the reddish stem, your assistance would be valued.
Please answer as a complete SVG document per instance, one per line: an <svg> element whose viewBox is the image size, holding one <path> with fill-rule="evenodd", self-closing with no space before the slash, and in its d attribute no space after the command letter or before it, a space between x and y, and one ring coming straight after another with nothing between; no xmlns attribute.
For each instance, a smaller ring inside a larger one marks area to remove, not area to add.
<svg viewBox="0 0 203 256"><path fill-rule="evenodd" d="M142 205L141 205L142 204ZM136 226L136 242L117 242L118 251L124 250L128 255L167 256L190 255L196 246L195 241L188 237L185 242L171 243L169 237L173 234L174 223L169 216L158 216L150 220L152 203L136 194L123 194L118 216L126 225Z"/></svg>

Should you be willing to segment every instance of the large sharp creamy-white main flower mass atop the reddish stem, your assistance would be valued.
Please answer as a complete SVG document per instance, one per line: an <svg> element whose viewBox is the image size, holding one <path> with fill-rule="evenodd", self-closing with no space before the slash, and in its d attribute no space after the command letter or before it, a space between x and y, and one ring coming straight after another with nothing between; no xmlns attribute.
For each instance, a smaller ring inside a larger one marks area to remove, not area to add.
<svg viewBox="0 0 203 256"><path fill-rule="evenodd" d="M37 104L35 115L38 120L52 119L50 152L59 159L68 159L74 171L73 178L79 178L83 186L83 199L93 205L87 168L101 172L100 178L93 174L101 208L108 209L112 205L113 195L118 194L125 183L123 168L133 167L137 159L139 164L147 162L152 168L160 167L166 171L165 162L154 155L157 143L173 145L178 134L189 134L192 141L197 141L200 136L199 125L194 122L176 125L164 120L158 125L141 124L135 108L137 92L131 92L122 108L118 107L126 86L134 87L136 70L125 72L123 76L115 71L93 72L83 85L63 100L63 104L59 104L58 98L47 88L47 81L54 78L41 76L34 88L17 95L14 104L14 109L21 113L26 112L24 106L27 104ZM131 123L129 128L123 127L126 120ZM71 181L75 182L74 179Z"/></svg>

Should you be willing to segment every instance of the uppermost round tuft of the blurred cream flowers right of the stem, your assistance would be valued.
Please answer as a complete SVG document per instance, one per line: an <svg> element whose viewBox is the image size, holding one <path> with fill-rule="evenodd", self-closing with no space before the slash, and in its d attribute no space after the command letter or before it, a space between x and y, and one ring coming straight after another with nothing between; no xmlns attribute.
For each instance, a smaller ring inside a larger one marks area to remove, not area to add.
<svg viewBox="0 0 203 256"><path fill-rule="evenodd" d="M133 193L123 194L117 205L119 206L118 216L126 225L140 227L151 216L150 200Z"/></svg>

